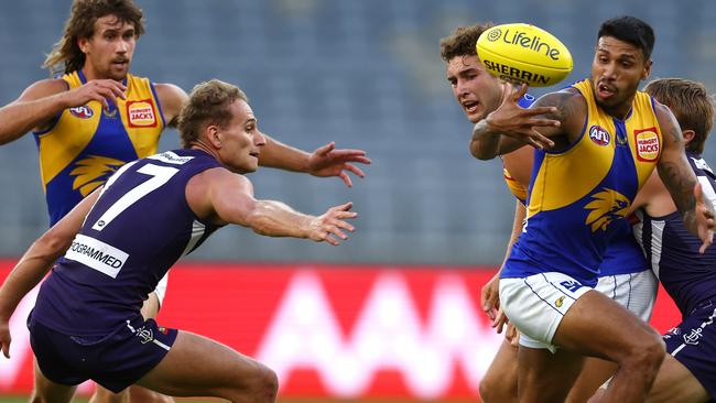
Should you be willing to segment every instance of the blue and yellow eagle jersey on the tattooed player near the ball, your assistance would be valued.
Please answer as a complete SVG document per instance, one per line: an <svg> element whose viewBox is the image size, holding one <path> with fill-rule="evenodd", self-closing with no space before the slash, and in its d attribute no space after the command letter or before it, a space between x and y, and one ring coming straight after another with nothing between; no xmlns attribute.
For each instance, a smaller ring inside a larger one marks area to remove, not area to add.
<svg viewBox="0 0 716 403"><path fill-rule="evenodd" d="M637 92L626 120L603 111L589 80L573 85L587 102L582 135L561 152L535 151L528 220L502 277L561 272L595 285L607 244L661 154L653 101Z"/></svg>

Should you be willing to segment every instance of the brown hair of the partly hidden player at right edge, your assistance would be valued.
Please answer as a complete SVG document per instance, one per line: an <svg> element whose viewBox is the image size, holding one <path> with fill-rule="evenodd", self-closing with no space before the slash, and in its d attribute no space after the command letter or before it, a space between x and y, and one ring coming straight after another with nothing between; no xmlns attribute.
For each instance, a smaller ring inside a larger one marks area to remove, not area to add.
<svg viewBox="0 0 716 403"><path fill-rule="evenodd" d="M693 130L686 150L704 152L704 143L714 124L714 100L703 84L682 78L660 78L644 87L644 92L671 109L681 130Z"/></svg>

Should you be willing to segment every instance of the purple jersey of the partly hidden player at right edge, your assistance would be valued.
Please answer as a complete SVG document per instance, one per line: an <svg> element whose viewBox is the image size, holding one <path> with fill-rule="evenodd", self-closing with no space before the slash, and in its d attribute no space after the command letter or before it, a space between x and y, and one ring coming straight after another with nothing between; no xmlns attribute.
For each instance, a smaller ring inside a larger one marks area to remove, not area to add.
<svg viewBox="0 0 716 403"><path fill-rule="evenodd" d="M686 153L704 190L716 204L716 175L701 156ZM647 260L682 315L707 301L716 301L716 247L698 253L702 241L686 230L679 211L650 217L641 211L642 224L634 227Z"/></svg>

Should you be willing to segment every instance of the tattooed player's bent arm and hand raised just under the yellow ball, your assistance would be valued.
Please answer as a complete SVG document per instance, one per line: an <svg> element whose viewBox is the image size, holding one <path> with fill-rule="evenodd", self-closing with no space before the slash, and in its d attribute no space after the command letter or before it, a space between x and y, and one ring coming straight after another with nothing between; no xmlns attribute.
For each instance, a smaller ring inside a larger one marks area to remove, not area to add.
<svg viewBox="0 0 716 403"><path fill-rule="evenodd" d="M517 105L527 90L513 92L506 86L502 105L473 129L470 153L478 160L491 160L525 144L538 149L561 149L581 134L586 101L576 90L565 89L538 99L530 109Z"/></svg>

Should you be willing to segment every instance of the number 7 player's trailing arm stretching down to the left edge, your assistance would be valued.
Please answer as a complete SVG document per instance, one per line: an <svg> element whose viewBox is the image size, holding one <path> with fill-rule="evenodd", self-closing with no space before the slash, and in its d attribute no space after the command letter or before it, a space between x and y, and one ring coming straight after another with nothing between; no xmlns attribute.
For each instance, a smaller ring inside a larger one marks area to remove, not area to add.
<svg viewBox="0 0 716 403"><path fill-rule="evenodd" d="M0 287L0 348L10 358L9 322L18 304L32 290L52 264L69 248L79 232L85 216L95 204L99 192L94 192L80 202L67 216L37 239Z"/></svg>

